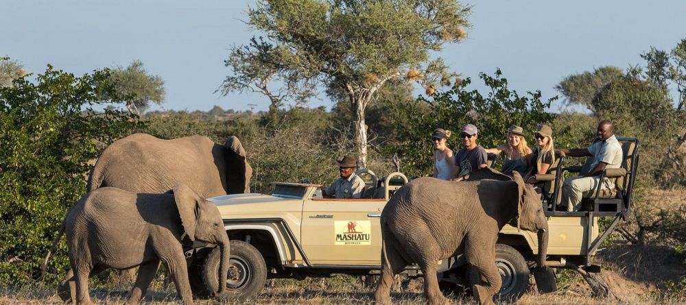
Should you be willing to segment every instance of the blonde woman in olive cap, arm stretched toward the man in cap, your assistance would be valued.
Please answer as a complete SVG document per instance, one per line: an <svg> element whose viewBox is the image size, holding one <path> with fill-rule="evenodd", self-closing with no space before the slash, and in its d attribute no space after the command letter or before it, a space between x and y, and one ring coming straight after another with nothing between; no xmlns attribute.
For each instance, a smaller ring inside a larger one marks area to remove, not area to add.
<svg viewBox="0 0 686 305"><path fill-rule="evenodd" d="M526 139L523 134L524 130L522 127L512 125L507 132L508 143L499 145L495 148L486 149L486 153L505 154L505 162L503 164L503 169L501 170L503 173L512 175L512 171L517 171L521 173L521 175L525 175L528 166L521 158L531 154L532 151L529 148L529 145L526 144Z"/></svg>

